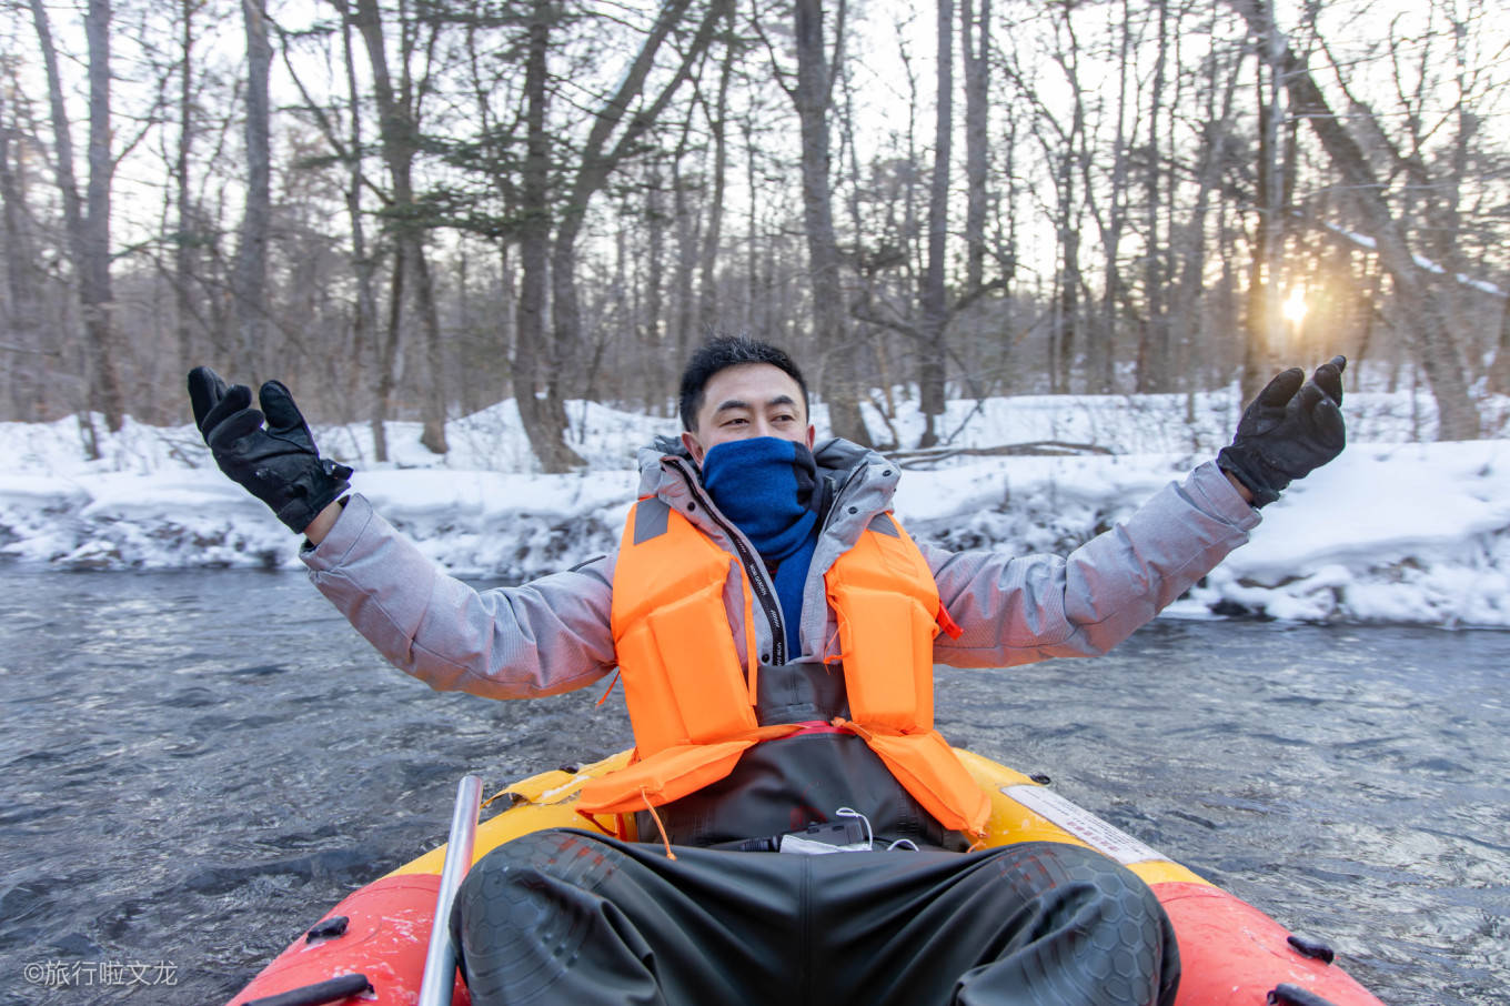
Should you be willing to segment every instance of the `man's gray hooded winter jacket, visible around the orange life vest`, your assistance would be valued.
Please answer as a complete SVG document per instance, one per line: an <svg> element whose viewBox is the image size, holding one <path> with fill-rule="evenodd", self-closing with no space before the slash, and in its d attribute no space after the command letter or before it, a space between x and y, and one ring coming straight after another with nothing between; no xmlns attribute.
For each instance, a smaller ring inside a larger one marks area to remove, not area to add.
<svg viewBox="0 0 1510 1006"><path fill-rule="evenodd" d="M732 556L753 557L749 541L707 498L692 461L666 450L669 444L640 452L639 495L660 497ZM895 464L847 441L821 443L814 453L834 500L803 591L802 654L785 654L787 660L838 656L823 572L873 517L889 509L900 476ZM1004 668L1102 654L1246 542L1258 520L1208 462L1063 557L954 553L920 541L939 600L963 630L957 639L939 634L935 659ZM307 547L302 559L319 591L384 657L433 689L533 698L583 687L616 666L615 556L479 592L441 572L353 495L331 533L319 547ZM770 595L757 604L755 651L763 663L781 663L775 589L763 563L749 568L757 594ZM725 604L737 651L744 653L743 594L732 569Z"/></svg>

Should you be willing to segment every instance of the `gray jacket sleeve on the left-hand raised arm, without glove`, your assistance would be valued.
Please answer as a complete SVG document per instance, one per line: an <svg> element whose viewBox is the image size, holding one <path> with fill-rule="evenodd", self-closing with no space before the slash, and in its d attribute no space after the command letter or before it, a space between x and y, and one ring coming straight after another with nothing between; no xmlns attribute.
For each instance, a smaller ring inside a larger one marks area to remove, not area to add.
<svg viewBox="0 0 1510 1006"><path fill-rule="evenodd" d="M616 666L613 557L516 588L476 591L445 576L361 495L305 545L310 579L396 668L432 689L535 698Z"/></svg>

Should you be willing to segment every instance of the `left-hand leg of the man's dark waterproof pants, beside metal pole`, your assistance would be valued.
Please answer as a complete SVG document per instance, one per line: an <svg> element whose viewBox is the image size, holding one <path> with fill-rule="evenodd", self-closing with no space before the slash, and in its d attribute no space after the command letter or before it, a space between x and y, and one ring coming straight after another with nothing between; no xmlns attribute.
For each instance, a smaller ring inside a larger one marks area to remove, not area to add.
<svg viewBox="0 0 1510 1006"><path fill-rule="evenodd" d="M794 870L755 855L521 835L467 875L451 933L476 1006L781 998Z"/></svg>

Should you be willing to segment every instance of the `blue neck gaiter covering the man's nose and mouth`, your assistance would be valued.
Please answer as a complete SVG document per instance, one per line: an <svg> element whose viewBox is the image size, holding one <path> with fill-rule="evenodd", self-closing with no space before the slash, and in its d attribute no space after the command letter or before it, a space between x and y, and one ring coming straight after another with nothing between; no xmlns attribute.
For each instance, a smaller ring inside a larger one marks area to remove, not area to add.
<svg viewBox="0 0 1510 1006"><path fill-rule="evenodd" d="M713 503L776 569L788 660L802 653L802 586L818 541L817 474L805 444L778 437L725 441L702 458L702 485Z"/></svg>

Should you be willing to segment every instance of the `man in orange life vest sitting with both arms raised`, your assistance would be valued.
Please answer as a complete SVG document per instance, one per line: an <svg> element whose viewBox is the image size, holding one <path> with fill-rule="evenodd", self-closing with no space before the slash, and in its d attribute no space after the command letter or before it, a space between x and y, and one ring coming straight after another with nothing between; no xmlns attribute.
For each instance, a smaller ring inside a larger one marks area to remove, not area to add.
<svg viewBox="0 0 1510 1006"><path fill-rule="evenodd" d="M969 850L986 799L932 730L932 668L1125 639L1342 449L1344 366L1276 378L1217 464L1125 524L1013 559L915 544L897 467L815 444L784 352L714 340L681 441L642 452L619 551L482 594L341 498L350 470L282 385L266 429L249 388L198 369L190 394L220 467L305 532L316 586L403 671L495 698L622 672L637 758L581 805L648 841L553 831L483 858L451 920L474 1001L1167 1006L1178 949L1136 876L1065 844ZM802 855L829 846L862 850Z"/></svg>

